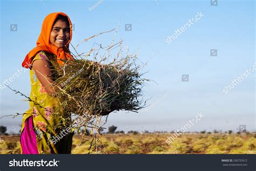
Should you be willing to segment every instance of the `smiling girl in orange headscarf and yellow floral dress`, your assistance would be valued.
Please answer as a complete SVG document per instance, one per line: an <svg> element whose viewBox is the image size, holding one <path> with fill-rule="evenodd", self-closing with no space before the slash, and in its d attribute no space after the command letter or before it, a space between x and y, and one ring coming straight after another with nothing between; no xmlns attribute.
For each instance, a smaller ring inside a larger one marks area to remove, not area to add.
<svg viewBox="0 0 256 171"><path fill-rule="evenodd" d="M63 134L69 127L70 113L58 108L51 61L73 59L69 51L72 38L70 18L63 12L45 17L37 46L25 57L22 66L30 69L30 108L23 114L21 129L22 154L70 154L73 133ZM61 135L60 135L61 134ZM54 137L54 142L52 141ZM56 137L58 137L56 139Z"/></svg>

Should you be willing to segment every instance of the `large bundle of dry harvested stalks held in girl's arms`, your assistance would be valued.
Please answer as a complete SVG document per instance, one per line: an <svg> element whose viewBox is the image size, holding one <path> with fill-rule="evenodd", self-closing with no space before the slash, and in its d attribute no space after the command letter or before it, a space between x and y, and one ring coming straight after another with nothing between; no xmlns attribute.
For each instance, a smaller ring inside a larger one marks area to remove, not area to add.
<svg viewBox="0 0 256 171"><path fill-rule="evenodd" d="M142 86L137 67L130 57L110 64L87 59L65 61L56 67L56 96L63 111L76 115L106 115L115 110L138 111L142 108ZM133 67L133 68L132 68Z"/></svg>

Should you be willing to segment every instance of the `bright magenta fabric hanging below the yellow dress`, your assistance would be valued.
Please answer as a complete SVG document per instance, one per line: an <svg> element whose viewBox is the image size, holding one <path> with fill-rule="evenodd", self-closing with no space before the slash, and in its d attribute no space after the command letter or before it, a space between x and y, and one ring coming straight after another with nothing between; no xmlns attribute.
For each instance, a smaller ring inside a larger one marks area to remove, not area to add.
<svg viewBox="0 0 256 171"><path fill-rule="evenodd" d="M31 116L25 120L21 134L22 154L38 154L36 133L33 127L33 117Z"/></svg>

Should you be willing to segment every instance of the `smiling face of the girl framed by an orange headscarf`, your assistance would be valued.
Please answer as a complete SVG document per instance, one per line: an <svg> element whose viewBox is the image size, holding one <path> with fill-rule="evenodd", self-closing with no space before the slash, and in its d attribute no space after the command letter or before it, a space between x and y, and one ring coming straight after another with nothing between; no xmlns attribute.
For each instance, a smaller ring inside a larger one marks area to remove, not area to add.
<svg viewBox="0 0 256 171"><path fill-rule="evenodd" d="M56 47L64 47L70 39L70 28L68 23L57 20L53 25L50 36L50 43Z"/></svg>

